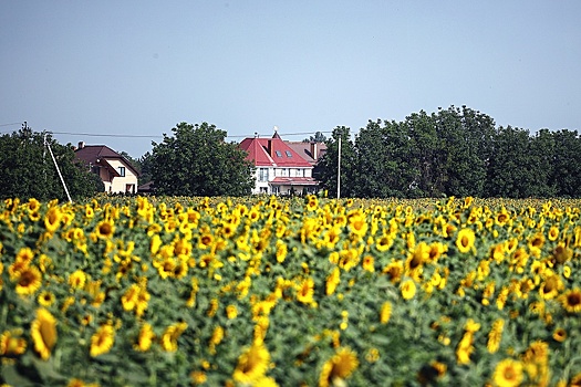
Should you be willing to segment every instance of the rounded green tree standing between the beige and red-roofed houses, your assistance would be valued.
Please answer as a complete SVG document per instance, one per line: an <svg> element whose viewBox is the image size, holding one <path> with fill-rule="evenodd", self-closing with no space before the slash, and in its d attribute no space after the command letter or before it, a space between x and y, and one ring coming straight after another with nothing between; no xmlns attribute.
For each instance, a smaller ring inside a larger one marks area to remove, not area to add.
<svg viewBox="0 0 581 387"><path fill-rule="evenodd" d="M179 123L153 144L151 172L158 194L243 196L255 186L253 165L215 125Z"/></svg>

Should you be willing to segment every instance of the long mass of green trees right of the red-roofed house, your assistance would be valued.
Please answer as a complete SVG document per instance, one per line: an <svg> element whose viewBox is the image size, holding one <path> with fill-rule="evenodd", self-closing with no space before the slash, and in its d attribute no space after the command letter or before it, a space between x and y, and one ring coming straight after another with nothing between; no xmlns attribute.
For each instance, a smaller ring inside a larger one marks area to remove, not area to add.
<svg viewBox="0 0 581 387"><path fill-rule="evenodd" d="M494 119L454 105L403 122L369 121L352 139L336 127L319 165L322 188L335 195L341 138L341 196L581 197L577 130L496 127Z"/></svg>

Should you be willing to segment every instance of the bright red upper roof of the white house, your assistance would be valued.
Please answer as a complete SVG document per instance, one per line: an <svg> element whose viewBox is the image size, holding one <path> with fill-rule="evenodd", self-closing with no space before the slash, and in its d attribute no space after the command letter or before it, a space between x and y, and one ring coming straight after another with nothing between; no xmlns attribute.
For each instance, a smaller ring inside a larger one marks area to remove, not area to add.
<svg viewBox="0 0 581 387"><path fill-rule="evenodd" d="M311 163L299 155L274 132L272 138L248 137L240 143L248 153L247 159L257 167L308 168Z"/></svg>

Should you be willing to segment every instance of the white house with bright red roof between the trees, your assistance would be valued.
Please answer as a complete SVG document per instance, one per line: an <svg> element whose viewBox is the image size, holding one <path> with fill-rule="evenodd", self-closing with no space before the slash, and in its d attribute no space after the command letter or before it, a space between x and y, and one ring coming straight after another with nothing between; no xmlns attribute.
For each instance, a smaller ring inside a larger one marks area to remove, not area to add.
<svg viewBox="0 0 581 387"><path fill-rule="evenodd" d="M274 132L271 138L248 137L240 143L247 159L256 166L252 194L314 194L319 182L312 177L313 164L283 142Z"/></svg>

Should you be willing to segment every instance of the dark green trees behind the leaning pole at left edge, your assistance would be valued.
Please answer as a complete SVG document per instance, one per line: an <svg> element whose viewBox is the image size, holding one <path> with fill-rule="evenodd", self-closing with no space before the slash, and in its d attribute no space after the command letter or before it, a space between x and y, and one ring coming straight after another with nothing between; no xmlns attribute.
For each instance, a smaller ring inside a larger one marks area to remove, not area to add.
<svg viewBox="0 0 581 387"><path fill-rule="evenodd" d="M50 133L22 128L0 137L0 196L68 200L52 150L72 199L103 191L103 182L82 165L71 144L56 143Z"/></svg>

